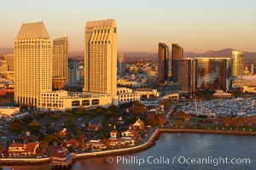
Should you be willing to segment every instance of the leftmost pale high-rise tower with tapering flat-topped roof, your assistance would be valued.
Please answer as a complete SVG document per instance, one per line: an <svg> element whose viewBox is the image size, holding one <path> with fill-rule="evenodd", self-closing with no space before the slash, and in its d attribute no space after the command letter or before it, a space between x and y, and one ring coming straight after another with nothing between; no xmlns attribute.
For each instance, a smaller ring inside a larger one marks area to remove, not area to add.
<svg viewBox="0 0 256 170"><path fill-rule="evenodd" d="M41 107L52 88L52 44L43 22L22 24L15 38L15 102Z"/></svg>

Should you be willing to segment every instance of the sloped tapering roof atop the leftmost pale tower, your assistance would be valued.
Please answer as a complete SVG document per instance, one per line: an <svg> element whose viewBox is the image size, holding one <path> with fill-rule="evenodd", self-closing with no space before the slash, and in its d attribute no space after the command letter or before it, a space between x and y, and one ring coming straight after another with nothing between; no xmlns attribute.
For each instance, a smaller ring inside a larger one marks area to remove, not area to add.
<svg viewBox="0 0 256 170"><path fill-rule="evenodd" d="M24 38L50 38L49 33L44 26L44 22L22 24L20 31L16 37L18 39Z"/></svg>

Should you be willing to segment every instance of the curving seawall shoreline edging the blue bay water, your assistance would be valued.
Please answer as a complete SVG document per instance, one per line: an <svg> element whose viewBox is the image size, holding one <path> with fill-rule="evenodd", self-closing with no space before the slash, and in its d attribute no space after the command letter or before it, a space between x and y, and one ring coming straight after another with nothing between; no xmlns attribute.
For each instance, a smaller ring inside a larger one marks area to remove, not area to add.
<svg viewBox="0 0 256 170"><path fill-rule="evenodd" d="M230 131L230 130L208 130L208 129L183 129L183 128L156 128L150 138L143 144L133 146L130 148L123 148L119 150L104 150L98 152L90 152L84 154L77 154L73 158L74 161L91 159L104 156L119 156L137 153L155 145L155 140L159 138L160 133L200 133L200 134L221 134L221 135L237 135L237 136L256 136L256 132L248 131ZM147 138L147 137L146 137ZM47 158L0 158L0 166L23 166L23 165L40 165L49 163L49 157Z"/></svg>

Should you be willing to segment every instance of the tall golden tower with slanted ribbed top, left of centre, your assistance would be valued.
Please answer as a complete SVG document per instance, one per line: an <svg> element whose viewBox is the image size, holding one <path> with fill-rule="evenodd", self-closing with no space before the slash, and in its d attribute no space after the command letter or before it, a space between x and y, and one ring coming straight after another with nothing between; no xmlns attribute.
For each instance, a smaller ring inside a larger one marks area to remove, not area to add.
<svg viewBox="0 0 256 170"><path fill-rule="evenodd" d="M115 20L96 20L84 29L84 91L116 95L117 27Z"/></svg>

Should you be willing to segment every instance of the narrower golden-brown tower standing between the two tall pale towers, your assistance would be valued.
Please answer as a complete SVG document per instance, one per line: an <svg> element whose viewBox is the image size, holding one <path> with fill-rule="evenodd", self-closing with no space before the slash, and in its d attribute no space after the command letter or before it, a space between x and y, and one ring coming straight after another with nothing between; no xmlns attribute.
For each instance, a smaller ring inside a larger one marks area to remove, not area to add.
<svg viewBox="0 0 256 170"><path fill-rule="evenodd" d="M67 37L60 37L54 40L52 61L53 88L64 88L68 82Z"/></svg>

